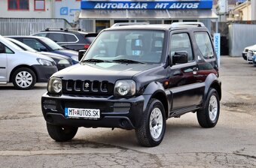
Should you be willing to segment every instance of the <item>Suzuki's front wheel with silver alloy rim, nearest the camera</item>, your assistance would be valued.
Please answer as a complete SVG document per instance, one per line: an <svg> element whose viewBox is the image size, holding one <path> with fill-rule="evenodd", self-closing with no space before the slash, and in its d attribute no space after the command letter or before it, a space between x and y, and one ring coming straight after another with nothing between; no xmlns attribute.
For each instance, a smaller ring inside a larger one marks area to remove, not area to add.
<svg viewBox="0 0 256 168"><path fill-rule="evenodd" d="M146 147L157 146L162 142L165 131L166 114L163 104L157 99L151 99L142 117L141 126L136 128L138 142Z"/></svg>

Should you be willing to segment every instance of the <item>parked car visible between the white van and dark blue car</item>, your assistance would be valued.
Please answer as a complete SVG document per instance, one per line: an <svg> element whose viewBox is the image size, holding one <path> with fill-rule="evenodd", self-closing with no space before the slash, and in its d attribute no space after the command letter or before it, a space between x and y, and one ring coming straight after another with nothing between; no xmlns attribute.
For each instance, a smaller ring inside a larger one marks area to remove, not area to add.
<svg viewBox="0 0 256 168"><path fill-rule="evenodd" d="M14 38L6 37L6 39L10 40L12 43L20 46L21 49L29 52L36 52L38 54L46 55L50 58L53 58L54 62L56 63L56 67L58 71L67 68L72 65L72 59L65 55L59 55L53 52L38 52L35 49L32 49L30 46L27 46L25 43L21 43L19 40L15 40Z"/></svg>

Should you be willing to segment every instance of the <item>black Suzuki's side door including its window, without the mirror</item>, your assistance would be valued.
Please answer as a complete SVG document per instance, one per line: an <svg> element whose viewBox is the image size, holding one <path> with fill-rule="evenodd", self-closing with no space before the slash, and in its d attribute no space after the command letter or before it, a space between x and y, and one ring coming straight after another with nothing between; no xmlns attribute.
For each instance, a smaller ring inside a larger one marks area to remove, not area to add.
<svg viewBox="0 0 256 168"><path fill-rule="evenodd" d="M203 98L204 86L195 76L198 71L190 34L186 31L172 31L169 36L169 58L178 52L187 53L187 62L169 67L169 91L172 93L172 110L195 109Z"/></svg>

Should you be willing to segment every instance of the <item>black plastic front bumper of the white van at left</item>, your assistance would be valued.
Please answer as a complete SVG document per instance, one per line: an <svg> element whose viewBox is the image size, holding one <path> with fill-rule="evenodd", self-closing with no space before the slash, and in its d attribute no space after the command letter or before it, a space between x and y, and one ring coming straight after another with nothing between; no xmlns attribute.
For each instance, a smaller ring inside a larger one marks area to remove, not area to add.
<svg viewBox="0 0 256 168"><path fill-rule="evenodd" d="M32 66L37 74L38 83L47 83L50 76L52 76L58 69L56 66L33 65Z"/></svg>

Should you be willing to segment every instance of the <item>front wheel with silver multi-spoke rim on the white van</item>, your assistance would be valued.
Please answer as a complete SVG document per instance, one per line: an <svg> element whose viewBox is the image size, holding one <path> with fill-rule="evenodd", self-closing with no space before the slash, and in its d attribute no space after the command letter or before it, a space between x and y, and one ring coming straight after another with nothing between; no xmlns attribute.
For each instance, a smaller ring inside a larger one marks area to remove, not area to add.
<svg viewBox="0 0 256 168"><path fill-rule="evenodd" d="M14 71L12 82L14 83L14 87L16 89L32 89L36 82L35 73L29 68L19 68Z"/></svg>

